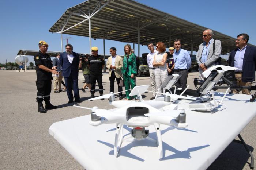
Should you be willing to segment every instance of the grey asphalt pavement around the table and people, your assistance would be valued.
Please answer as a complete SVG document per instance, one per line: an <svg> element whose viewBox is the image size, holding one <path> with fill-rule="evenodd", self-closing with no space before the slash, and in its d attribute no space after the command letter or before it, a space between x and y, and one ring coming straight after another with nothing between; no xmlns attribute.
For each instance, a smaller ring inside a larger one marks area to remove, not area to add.
<svg viewBox="0 0 256 170"><path fill-rule="evenodd" d="M79 74L81 79L79 88L82 88L83 76L82 73ZM67 93L53 93L52 82L50 102L57 105L58 108L49 110L47 113L39 113L35 101L37 89L34 70L27 72L0 70L0 77L0 169L83 169L48 133L48 129L54 122L88 115L90 111L67 104ZM193 86L195 77L197 77L197 72L188 75L188 85L191 89L195 89ZM146 84L150 84L149 77L137 77L136 85ZM109 93L109 85L108 73L104 73L104 94ZM81 90L79 92L83 101L80 103L81 106L99 106L100 102L101 108L114 108L108 104L107 100L87 101L91 96L88 89L85 93ZM115 92L118 92L116 84ZM95 92L96 96L99 96L98 91ZM145 100L149 100L151 97L151 93L143 94ZM256 118L240 133L251 151L256 147L255 124ZM249 154L244 146L231 142L208 169L249 170L248 162L250 162Z"/></svg>

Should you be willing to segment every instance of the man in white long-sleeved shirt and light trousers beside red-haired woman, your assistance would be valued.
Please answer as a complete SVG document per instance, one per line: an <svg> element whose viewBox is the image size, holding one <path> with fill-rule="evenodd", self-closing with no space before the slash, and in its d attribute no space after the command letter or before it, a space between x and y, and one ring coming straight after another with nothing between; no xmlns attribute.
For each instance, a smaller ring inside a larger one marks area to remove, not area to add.
<svg viewBox="0 0 256 170"><path fill-rule="evenodd" d="M157 53L157 50L154 48L153 43L148 43L147 44L148 49L150 50L150 53L147 55L147 64L149 67L149 77L150 77L150 82L151 82L151 88L152 91L156 92L155 89L155 67L153 67L152 63L154 60L154 55ZM152 94L153 97L150 98L150 100L155 99L155 93Z"/></svg>

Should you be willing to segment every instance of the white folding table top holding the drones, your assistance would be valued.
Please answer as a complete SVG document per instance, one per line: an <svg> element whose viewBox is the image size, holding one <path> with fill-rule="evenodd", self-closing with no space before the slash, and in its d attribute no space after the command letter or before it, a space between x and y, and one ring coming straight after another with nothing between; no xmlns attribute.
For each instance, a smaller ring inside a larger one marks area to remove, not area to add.
<svg viewBox="0 0 256 170"><path fill-rule="evenodd" d="M215 93L217 101L222 96L223 93ZM49 133L86 170L207 169L255 117L256 102L249 102L250 98L249 95L227 94L213 114L187 110L189 125L185 129L161 125L161 160L157 143L147 139L123 142L119 156L114 157L116 125L91 126L90 115L53 123ZM178 108L188 109L189 102L180 101ZM156 139L154 127L148 129L149 137ZM124 138L131 136L130 130L124 126Z"/></svg>

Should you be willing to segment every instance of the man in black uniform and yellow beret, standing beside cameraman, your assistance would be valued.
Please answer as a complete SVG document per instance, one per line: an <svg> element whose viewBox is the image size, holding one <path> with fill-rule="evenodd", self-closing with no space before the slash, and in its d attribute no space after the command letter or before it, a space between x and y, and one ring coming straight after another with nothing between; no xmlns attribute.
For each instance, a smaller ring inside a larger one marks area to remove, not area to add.
<svg viewBox="0 0 256 170"><path fill-rule="evenodd" d="M91 55L87 61L90 67L90 82L91 82L91 98L94 98L96 80L99 86L99 96L103 95L102 85L102 69L104 68L105 61L101 55L98 55L98 47L91 47ZM104 100L101 98L101 100Z"/></svg>

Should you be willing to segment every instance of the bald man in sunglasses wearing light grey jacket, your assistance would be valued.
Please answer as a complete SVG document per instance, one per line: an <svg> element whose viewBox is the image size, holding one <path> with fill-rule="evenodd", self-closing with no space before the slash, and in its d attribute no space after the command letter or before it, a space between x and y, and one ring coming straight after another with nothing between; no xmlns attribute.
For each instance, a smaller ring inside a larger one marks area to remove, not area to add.
<svg viewBox="0 0 256 170"><path fill-rule="evenodd" d="M203 72L211 66L219 65L221 55L221 41L212 38L213 32L210 29L203 32L203 43L199 45L196 61L199 66L199 79L204 80Z"/></svg>

